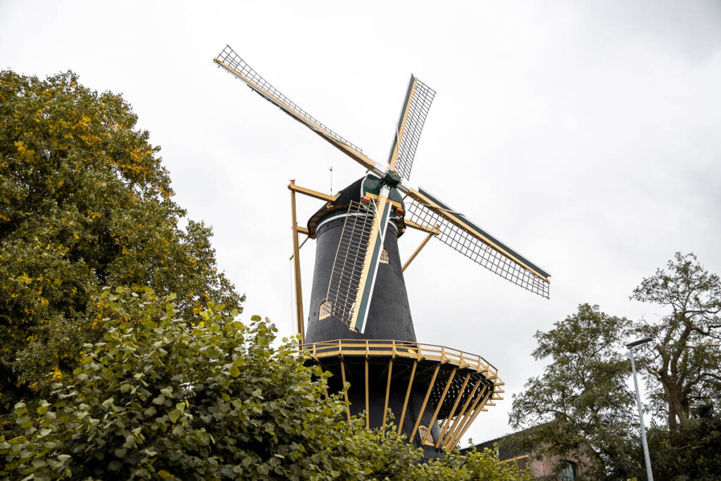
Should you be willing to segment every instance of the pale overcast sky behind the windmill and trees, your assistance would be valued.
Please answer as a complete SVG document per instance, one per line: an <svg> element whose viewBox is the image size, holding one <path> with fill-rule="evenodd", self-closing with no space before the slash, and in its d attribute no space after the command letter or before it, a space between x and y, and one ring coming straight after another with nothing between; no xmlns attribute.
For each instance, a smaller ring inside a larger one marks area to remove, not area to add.
<svg viewBox="0 0 721 481"><path fill-rule="evenodd" d="M217 69L226 44L376 162L418 76L438 93L410 183L552 274L547 301L441 242L405 273L419 342L506 383L474 441L510 431L511 394L544 366L536 330L583 302L660 314L628 297L676 251L721 273L718 1L0 0L0 68L123 92L177 202L213 226L242 316L291 335L288 180L328 192L332 166L337 191L363 169ZM303 222L318 207L299 200ZM405 234L402 259L422 240ZM301 260L307 301L312 242Z"/></svg>

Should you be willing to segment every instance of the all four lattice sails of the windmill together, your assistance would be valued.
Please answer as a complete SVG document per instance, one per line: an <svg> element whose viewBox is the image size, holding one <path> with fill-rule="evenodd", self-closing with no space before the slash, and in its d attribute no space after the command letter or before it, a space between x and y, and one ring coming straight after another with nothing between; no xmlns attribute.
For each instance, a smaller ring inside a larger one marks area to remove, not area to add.
<svg viewBox="0 0 721 481"><path fill-rule="evenodd" d="M283 112L378 176L384 182L384 187L397 187L407 193L407 219L423 226L454 250L493 273L539 296L549 297L548 273L487 231L472 224L462 214L448 208L430 193L410 189L401 182L410 177L425 118L435 97L435 91L415 76L411 76L408 84L388 165L381 168L363 154L358 146L329 129L273 87L228 45L213 61L244 81L265 100L280 107ZM378 200L377 206L373 203L370 206L362 203L350 206L327 293L328 301L332 304L332 314L345 322L350 329L361 332L368 315L389 215L389 208L386 208L389 205L386 203L387 198L379 195ZM434 228L436 224L437 233Z"/></svg>

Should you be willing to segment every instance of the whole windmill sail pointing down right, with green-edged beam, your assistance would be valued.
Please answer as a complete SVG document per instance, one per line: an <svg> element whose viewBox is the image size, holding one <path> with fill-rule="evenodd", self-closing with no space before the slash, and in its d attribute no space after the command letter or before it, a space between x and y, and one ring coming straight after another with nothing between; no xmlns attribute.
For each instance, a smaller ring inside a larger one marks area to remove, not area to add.
<svg viewBox="0 0 721 481"><path fill-rule="evenodd" d="M423 189L410 189L408 194L413 200L406 202L406 213L412 222L429 229L438 225L435 237L454 250L517 286L549 298L549 273Z"/></svg>

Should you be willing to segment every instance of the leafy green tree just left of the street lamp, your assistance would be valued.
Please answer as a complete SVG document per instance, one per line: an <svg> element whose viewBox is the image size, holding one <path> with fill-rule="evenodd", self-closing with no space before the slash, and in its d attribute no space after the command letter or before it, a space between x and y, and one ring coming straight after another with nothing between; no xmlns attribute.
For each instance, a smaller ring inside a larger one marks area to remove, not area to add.
<svg viewBox="0 0 721 481"><path fill-rule="evenodd" d="M524 431L524 443L539 454L579 454L582 469L598 477L629 474L629 428L637 426L634 397L626 387L629 363L619 351L630 321L609 316L598 306L536 332L536 360L550 358L541 376L513 396L510 423ZM584 459L590 459L590 463Z"/></svg>

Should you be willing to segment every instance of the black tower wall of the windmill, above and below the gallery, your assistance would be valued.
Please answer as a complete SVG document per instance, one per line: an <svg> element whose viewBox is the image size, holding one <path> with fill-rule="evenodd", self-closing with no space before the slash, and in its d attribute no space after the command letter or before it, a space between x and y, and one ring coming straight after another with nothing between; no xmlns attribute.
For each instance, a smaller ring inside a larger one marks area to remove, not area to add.
<svg viewBox="0 0 721 481"><path fill-rule="evenodd" d="M376 274L376 286L371 297L371 306L368 312L366 328L363 333L353 332L344 322L335 317L318 319L322 302L327 299L328 284L332 273L333 262L337 251L340 235L345 222L343 215L350 200L358 201L361 198L363 180L346 187L338 196L333 205L321 209L309 222L309 231L316 237L316 260L309 303L309 314L306 328L306 343L322 343L329 340L401 340L416 343L415 330L408 304L405 281L401 260L398 252L398 224L389 222L384 248L388 251L389 262L381 263ZM399 199L400 200L400 199ZM334 217L335 216L335 217ZM345 356L345 374L350 382L348 399L350 412L358 414L366 410L365 392L365 356L350 358ZM333 391L342 389L340 376L340 360L329 361L324 359L324 368L335 375L329 381ZM368 375L368 405L369 424L372 428L383 423L384 402L386 397L388 359L378 359L371 356ZM425 387L420 386L418 379L420 372L428 372L432 366L420 366L417 369L416 382L411 390L406 413L404 415L402 432L410 437L416 420L420 417L421 424L428 426L433 418L435 405L428 402L423 412L423 399ZM408 381L410 379L410 366L398 364L394 366L391 389L389 392L388 407L393 412L394 423L399 424L402 415ZM425 384L427 387L428 384ZM431 428L431 441L440 436L438 425L433 423ZM413 444L421 446L420 433L416 433ZM443 456L443 451L433 446L423 446L428 457Z"/></svg>

